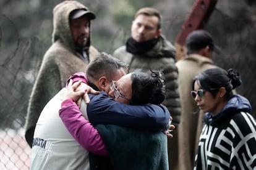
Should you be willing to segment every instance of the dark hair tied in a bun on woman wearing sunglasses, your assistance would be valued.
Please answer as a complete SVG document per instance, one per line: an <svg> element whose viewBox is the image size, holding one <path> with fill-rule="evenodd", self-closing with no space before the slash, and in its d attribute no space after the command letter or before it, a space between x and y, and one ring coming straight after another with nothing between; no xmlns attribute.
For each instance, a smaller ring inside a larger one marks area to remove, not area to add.
<svg viewBox="0 0 256 170"><path fill-rule="evenodd" d="M195 81L198 81L200 87L206 91L211 92L213 97L216 97L220 87L226 89L226 99L229 100L233 97L232 90L242 84L239 73L233 69L228 72L222 68L210 68L195 76L192 83L194 89Z"/></svg>

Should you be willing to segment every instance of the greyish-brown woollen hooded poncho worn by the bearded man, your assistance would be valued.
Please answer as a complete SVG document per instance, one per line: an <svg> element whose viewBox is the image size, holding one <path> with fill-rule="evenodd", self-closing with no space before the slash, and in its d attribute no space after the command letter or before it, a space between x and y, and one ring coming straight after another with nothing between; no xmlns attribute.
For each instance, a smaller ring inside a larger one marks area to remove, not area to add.
<svg viewBox="0 0 256 170"><path fill-rule="evenodd" d="M46 51L30 95L25 123L25 138L32 147L36 121L46 103L66 84L70 75L83 71L88 63L75 51L69 26L69 14L75 9L86 9L77 1L63 1L53 9L53 44ZM87 42L87 53L93 60L98 51Z"/></svg>

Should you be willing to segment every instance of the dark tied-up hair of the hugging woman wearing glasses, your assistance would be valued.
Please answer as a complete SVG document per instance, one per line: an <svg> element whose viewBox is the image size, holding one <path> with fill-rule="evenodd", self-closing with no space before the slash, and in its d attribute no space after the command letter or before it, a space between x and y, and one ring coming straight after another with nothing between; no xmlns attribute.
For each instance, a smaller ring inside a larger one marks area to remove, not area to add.
<svg viewBox="0 0 256 170"><path fill-rule="evenodd" d="M132 73L132 105L160 104L164 101L166 89L163 73L150 71L150 75L140 70Z"/></svg>

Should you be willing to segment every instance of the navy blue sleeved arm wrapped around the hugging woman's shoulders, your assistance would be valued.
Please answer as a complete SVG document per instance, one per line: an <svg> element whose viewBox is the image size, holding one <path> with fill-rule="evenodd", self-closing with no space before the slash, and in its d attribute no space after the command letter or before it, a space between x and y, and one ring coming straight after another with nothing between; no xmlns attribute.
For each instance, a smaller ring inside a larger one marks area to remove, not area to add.
<svg viewBox="0 0 256 170"><path fill-rule="evenodd" d="M92 124L116 124L153 131L164 129L170 119L164 105L127 105L115 102L105 92L90 95L87 114Z"/></svg>

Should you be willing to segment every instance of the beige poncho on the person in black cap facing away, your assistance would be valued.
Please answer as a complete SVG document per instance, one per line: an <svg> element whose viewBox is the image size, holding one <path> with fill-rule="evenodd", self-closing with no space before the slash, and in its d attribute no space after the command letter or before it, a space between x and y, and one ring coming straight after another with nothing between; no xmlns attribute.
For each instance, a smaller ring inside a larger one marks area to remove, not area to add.
<svg viewBox="0 0 256 170"><path fill-rule="evenodd" d="M176 62L179 70L179 94L181 97L181 123L178 129L178 161L173 162L173 169L193 169L194 156L198 140L203 128L203 113L198 111L197 103L193 99L193 78L208 68L215 68L212 59L198 54L190 54L185 59Z"/></svg>

